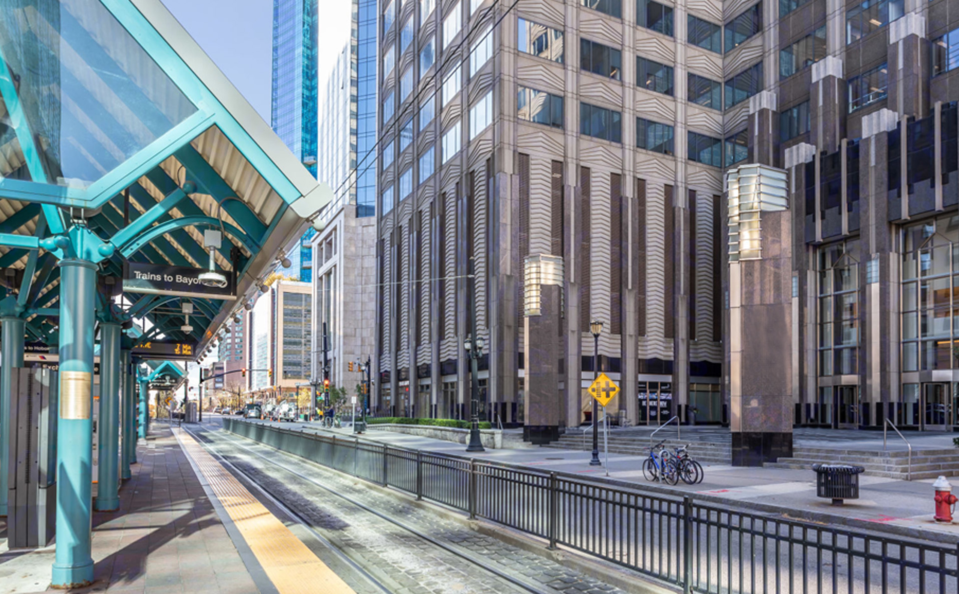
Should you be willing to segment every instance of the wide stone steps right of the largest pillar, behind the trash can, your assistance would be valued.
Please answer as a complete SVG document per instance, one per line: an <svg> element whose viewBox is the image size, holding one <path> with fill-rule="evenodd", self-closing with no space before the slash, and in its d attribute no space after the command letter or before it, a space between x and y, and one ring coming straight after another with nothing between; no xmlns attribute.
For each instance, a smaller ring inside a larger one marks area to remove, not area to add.
<svg viewBox="0 0 959 594"><path fill-rule="evenodd" d="M612 451L612 450L611 450ZM811 469L814 463L843 463L862 466L864 474L905 480L908 456L905 451L844 450L796 446L791 458L765 463L767 468ZM940 475L959 476L959 449L914 449L912 479L934 479Z"/></svg>

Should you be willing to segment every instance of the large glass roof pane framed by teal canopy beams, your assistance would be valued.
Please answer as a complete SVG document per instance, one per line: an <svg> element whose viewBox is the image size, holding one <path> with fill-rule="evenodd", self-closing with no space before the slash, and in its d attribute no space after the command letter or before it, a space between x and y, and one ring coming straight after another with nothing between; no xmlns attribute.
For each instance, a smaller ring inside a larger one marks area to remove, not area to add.
<svg viewBox="0 0 959 594"><path fill-rule="evenodd" d="M100 0L0 2L0 177L85 188L196 111Z"/></svg>

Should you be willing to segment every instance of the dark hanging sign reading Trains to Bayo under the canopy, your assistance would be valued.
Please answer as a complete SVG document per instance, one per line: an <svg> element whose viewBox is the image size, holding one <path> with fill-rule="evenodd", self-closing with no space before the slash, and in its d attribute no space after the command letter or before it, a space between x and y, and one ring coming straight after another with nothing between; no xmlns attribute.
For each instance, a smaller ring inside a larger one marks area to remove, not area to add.
<svg viewBox="0 0 959 594"><path fill-rule="evenodd" d="M232 299L236 297L233 275L225 274L222 286L204 285L199 275L208 272L202 268L185 266L159 266L129 262L124 266L123 290L129 293L152 295L178 295L180 297L212 297Z"/></svg>

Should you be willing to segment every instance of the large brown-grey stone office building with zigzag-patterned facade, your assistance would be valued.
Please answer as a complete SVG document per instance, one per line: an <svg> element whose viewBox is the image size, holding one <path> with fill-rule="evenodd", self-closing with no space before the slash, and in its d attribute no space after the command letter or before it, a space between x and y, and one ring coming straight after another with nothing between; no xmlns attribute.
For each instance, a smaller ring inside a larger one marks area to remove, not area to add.
<svg viewBox="0 0 959 594"><path fill-rule="evenodd" d="M946 0L399 4L380 5L380 412L468 415L475 312L494 421L532 422L530 398L555 409L533 424L587 418L596 320L598 370L621 388L613 412L658 424L694 407L696 422L730 422L724 172L755 162L789 174L795 314L776 360L791 362L794 422L951 424L953 330L936 321L951 292L915 273L917 297L900 297L906 229L919 225L908 246L927 261L956 203L959 10ZM911 181L923 168L925 185ZM561 258L559 290L525 295L545 256ZM953 270L942 266L939 284ZM858 306L867 278L871 309ZM526 316L529 295L552 319ZM744 327L743 340L765 330ZM926 392L943 396L925 404Z"/></svg>

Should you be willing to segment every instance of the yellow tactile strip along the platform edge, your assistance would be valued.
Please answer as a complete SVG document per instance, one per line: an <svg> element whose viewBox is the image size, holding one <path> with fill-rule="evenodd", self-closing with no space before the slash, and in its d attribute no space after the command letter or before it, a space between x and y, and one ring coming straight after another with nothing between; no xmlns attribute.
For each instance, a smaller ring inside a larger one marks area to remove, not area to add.
<svg viewBox="0 0 959 594"><path fill-rule="evenodd" d="M182 431L175 434L280 594L353 592L197 440Z"/></svg>

